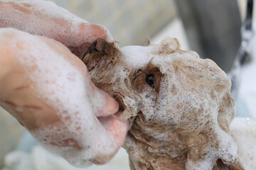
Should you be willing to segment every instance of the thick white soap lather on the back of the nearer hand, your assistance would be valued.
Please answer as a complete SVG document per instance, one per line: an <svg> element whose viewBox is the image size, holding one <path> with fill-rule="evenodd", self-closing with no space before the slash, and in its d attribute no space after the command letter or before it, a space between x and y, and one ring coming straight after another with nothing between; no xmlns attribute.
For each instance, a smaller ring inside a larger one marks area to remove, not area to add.
<svg viewBox="0 0 256 170"><path fill-rule="evenodd" d="M5 39L6 34L14 36ZM24 49L14 54L25 72L29 72L26 78L35 85L31 84L31 88L37 92L37 97L54 108L54 113L60 118L59 124L31 131L41 145L75 166L87 166L92 164L90 159L114 153L114 140L95 117L95 109L105 106L105 98L100 92L93 92L85 75L68 57L53 50L39 37L12 28L1 28L0 40L12 44L9 48L14 50L17 44L23 44ZM71 55L71 52L68 54ZM74 60L79 59L74 55ZM89 102L91 93L97 100L94 106ZM70 146L74 146L76 141L81 149L61 147L63 140ZM58 146L53 146L53 142Z"/></svg>

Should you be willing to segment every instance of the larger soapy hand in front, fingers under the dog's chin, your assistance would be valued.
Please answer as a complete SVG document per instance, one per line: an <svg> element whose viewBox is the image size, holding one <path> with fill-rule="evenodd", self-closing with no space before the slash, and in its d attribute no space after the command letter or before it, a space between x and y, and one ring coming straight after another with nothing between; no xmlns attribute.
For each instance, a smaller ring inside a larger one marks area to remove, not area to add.
<svg viewBox="0 0 256 170"><path fill-rule="evenodd" d="M112 115L118 109L113 99L90 84L85 64L60 42L12 28L0 28L0 44L14 61L0 78L0 105L15 104L11 109L32 127L33 137L71 164L107 162L124 142L128 125ZM107 111L97 118L99 108Z"/></svg>

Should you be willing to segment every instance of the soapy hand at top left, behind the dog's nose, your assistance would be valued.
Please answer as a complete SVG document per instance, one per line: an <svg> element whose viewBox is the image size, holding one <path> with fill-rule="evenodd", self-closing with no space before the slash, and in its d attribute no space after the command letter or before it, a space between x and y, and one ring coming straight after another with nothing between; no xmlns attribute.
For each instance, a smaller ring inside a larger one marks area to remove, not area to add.
<svg viewBox="0 0 256 170"><path fill-rule="evenodd" d="M97 38L113 39L107 28L87 23L51 1L0 1L0 16L0 28L53 38L76 55Z"/></svg>

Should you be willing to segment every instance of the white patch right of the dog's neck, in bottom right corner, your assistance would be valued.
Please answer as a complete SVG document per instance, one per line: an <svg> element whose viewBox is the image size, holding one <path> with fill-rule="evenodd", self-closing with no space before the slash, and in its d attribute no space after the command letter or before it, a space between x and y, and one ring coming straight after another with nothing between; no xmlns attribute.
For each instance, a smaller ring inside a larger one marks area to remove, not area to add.
<svg viewBox="0 0 256 170"><path fill-rule="evenodd" d="M238 145L238 155L246 170L256 169L256 120L235 118L230 125Z"/></svg>

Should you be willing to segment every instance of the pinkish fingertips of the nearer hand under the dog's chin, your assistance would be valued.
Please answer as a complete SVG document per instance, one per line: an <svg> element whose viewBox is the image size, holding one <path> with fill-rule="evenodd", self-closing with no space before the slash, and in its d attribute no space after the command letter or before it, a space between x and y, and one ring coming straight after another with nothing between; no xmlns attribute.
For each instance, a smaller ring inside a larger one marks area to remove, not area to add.
<svg viewBox="0 0 256 170"><path fill-rule="evenodd" d="M90 101L90 103L94 103L94 106L92 106L94 114L97 116L97 120L100 121L100 124L105 129L107 133L107 140L112 141L108 144L103 144L105 148L109 147L108 152L99 152L96 157L90 159L90 161L95 164L105 164L124 144L124 140L129 129L129 122L128 120L122 120L119 118L119 115L121 115L122 112L119 111L117 113L119 105L114 98L112 98L105 91L98 89L93 84L90 84L90 86L92 87L92 90L90 90L89 98L100 96L100 98L105 99L103 105L98 104L97 101Z"/></svg>

